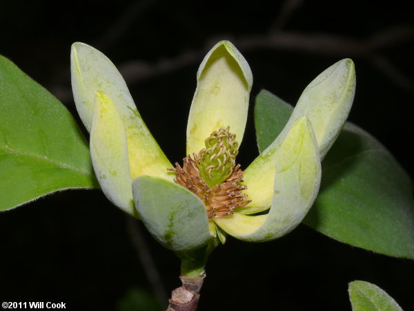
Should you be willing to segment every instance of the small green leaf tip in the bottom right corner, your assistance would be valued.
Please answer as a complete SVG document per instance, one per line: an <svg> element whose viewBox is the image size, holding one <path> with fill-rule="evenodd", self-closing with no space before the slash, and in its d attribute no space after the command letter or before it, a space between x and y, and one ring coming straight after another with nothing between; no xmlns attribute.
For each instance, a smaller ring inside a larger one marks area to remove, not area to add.
<svg viewBox="0 0 414 311"><path fill-rule="evenodd" d="M402 311L400 305L377 285L353 281L348 286L353 311Z"/></svg>

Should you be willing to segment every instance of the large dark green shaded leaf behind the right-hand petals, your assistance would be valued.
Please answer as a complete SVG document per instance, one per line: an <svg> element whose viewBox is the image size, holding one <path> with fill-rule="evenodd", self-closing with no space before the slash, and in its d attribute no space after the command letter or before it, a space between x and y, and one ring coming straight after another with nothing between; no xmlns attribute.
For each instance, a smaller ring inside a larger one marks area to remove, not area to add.
<svg viewBox="0 0 414 311"><path fill-rule="evenodd" d="M257 95L255 124L260 151L287 121L284 102L267 91ZM322 163L319 196L304 223L344 243L414 258L412 189L413 183L391 153L347 122Z"/></svg>

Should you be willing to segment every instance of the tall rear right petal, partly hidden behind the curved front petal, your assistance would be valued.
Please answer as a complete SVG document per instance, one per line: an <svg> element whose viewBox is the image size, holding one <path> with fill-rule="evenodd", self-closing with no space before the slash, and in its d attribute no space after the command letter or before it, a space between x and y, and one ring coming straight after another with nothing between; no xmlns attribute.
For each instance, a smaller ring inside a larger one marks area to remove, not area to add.
<svg viewBox="0 0 414 311"><path fill-rule="evenodd" d="M240 209L243 214L257 213L270 207L273 198L275 151L299 117L306 115L311 121L319 155L324 158L348 117L355 94L355 81L352 60L342 59L306 87L283 131L244 172L244 184L248 187L246 194L252 202Z"/></svg>

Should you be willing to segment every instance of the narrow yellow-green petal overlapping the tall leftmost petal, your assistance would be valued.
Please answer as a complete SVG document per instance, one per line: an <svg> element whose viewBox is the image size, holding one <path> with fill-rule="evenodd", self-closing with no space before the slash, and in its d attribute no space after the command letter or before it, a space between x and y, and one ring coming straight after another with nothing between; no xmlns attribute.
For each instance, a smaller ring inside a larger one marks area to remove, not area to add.
<svg viewBox="0 0 414 311"><path fill-rule="evenodd" d="M103 193L134 214L126 133L115 104L97 92L90 131L90 156Z"/></svg>

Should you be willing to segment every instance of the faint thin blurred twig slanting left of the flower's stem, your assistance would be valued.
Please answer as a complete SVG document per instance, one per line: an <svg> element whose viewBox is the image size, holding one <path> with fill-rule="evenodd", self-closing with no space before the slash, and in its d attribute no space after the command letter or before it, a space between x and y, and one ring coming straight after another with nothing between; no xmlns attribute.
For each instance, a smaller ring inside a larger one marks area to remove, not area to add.
<svg viewBox="0 0 414 311"><path fill-rule="evenodd" d="M142 237L142 232L139 229L135 218L127 215L126 223L130 241L137 252L142 267L144 267L144 272L146 273L146 277L151 284L152 290L155 292L155 295L159 300L159 304L164 310L166 308L167 294L161 281L161 276L158 273L157 267L155 267L150 250Z"/></svg>

